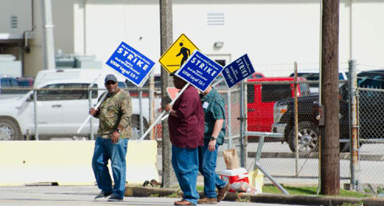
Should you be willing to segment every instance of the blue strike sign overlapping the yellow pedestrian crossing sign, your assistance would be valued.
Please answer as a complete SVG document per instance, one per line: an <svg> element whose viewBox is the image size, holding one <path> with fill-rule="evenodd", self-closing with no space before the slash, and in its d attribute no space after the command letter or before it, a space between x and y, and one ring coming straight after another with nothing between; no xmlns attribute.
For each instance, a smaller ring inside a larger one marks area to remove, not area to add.
<svg viewBox="0 0 384 206"><path fill-rule="evenodd" d="M204 92L222 70L221 65L195 50L175 75Z"/></svg>

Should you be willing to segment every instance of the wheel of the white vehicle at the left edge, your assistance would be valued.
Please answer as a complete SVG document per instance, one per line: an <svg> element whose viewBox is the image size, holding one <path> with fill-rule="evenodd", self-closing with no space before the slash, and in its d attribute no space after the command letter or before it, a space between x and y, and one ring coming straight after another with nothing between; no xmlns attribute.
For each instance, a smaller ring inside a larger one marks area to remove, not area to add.
<svg viewBox="0 0 384 206"><path fill-rule="evenodd" d="M0 140L23 140L16 121L9 118L0 119Z"/></svg>

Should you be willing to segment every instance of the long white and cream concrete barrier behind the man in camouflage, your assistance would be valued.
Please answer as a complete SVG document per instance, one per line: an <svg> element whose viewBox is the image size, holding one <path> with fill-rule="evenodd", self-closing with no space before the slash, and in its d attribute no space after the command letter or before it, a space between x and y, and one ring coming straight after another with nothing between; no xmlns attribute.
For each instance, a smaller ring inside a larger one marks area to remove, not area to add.
<svg viewBox="0 0 384 206"><path fill-rule="evenodd" d="M95 141L0 141L0 185L95 185L91 166L94 146ZM156 156L156 141L130 140L128 184L159 181Z"/></svg>

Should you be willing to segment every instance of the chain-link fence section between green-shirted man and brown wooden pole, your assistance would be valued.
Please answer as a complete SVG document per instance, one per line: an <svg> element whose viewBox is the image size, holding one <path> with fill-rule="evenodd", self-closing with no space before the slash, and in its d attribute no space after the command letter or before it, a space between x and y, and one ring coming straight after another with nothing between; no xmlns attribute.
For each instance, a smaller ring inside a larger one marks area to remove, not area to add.
<svg viewBox="0 0 384 206"><path fill-rule="evenodd" d="M297 113L299 158L297 150L295 114L295 82L290 77L267 77L247 82L247 131L276 132L282 139L266 137L262 146L260 165L277 180L284 182L314 179L319 174L317 148L319 129L312 124L312 107L318 102L318 93L311 90L318 81L299 78L297 83ZM279 102L281 108L274 108ZM277 109L278 111L274 111ZM277 114L277 112L279 112ZM247 136L247 170L255 163L260 136Z"/></svg>

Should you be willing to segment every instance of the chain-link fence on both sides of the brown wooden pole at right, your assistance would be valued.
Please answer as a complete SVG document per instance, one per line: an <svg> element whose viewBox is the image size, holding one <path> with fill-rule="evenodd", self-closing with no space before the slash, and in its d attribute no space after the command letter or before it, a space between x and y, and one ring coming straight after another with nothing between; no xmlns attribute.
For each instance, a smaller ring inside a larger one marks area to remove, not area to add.
<svg viewBox="0 0 384 206"><path fill-rule="evenodd" d="M342 69L345 71L345 69ZM360 145L358 148L359 189L383 185L383 116L384 70L363 73L358 71L358 121ZM367 74L368 73L368 74ZM306 76L305 76L306 75ZM260 165L278 181L316 183L319 178L319 128L314 124L313 108L319 102L319 76L317 72L302 74L298 79L297 106L294 82L281 78L265 78L246 83L247 131L269 131L284 134L284 139L266 138ZM360 76L360 77L359 77ZM351 181L350 118L347 72L340 72L340 175L341 183ZM268 79L270 79L268 81ZM274 80L272 80L274 79ZM285 87L285 89L284 89ZM309 87L309 92L305 88ZM271 89L272 88L272 89ZM283 97L285 94L286 96ZM279 98L282 97L282 98ZM276 103L276 104L274 104ZM297 107L296 156L295 107ZM258 136L247 136L247 160L244 166L252 170L258 148Z"/></svg>

